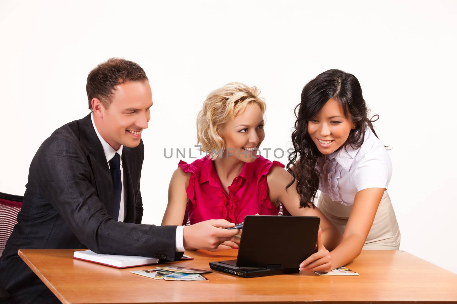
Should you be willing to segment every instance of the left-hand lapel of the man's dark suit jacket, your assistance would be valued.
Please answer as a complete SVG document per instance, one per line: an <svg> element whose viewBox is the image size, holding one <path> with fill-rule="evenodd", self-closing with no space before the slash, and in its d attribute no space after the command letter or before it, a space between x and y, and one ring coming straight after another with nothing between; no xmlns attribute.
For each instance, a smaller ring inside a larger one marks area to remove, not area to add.
<svg viewBox="0 0 457 304"><path fill-rule="evenodd" d="M105 152L95 133L90 114L79 120L80 140L87 148L88 160L94 173L97 196L105 205L106 211L113 216L113 185ZM122 153L123 154L123 153Z"/></svg>

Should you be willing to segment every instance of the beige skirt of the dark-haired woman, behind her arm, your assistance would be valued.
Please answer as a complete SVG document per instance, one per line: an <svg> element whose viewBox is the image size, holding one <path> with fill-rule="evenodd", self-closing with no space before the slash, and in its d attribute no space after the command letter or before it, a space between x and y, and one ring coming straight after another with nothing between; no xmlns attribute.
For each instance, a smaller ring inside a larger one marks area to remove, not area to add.
<svg viewBox="0 0 457 304"><path fill-rule="evenodd" d="M341 233L344 233L352 206L345 206L339 201L332 201L329 196L320 195L318 208L327 216ZM373 225L362 249L398 250L400 247L400 229L393 211L390 197L384 191L383 198L376 211Z"/></svg>

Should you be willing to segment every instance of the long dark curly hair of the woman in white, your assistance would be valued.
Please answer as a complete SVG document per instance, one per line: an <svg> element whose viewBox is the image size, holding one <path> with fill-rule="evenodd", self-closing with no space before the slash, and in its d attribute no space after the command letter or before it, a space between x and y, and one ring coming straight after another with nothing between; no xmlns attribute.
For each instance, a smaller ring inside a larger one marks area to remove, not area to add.
<svg viewBox="0 0 457 304"><path fill-rule="evenodd" d="M368 119L369 110L363 99L360 83L354 75L331 69L308 82L303 88L301 102L295 107L297 120L292 132L294 151L289 155L287 164L287 171L293 176L287 188L297 181L301 208L314 208L313 201L319 189L319 171L315 165L318 157L322 156L308 134L308 121L317 115L330 98L341 103L345 117L356 125L339 149L346 148L349 144L353 149L359 148L363 144L367 127L376 135L372 123L379 116L374 115L372 119Z"/></svg>

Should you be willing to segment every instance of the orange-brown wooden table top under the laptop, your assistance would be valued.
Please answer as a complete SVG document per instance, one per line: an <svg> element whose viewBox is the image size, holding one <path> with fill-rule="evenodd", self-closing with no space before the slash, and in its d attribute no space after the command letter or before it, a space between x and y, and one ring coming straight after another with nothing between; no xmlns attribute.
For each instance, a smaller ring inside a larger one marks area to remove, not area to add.
<svg viewBox="0 0 457 304"><path fill-rule="evenodd" d="M73 252L27 249L19 255L63 303L457 303L457 274L404 251L363 250L347 265L360 276L240 278L215 272L205 274L206 282L154 280L129 271L157 265L117 269L73 259ZM233 259L237 251L186 254L195 260L173 264L209 270L208 262Z"/></svg>

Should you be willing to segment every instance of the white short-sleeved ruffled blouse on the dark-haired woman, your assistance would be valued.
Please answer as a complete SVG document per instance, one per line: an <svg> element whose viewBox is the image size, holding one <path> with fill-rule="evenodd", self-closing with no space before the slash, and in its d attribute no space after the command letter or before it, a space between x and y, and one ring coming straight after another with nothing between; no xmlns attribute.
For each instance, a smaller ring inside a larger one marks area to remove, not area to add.
<svg viewBox="0 0 457 304"><path fill-rule="evenodd" d="M369 128L360 148L346 145L330 155L319 157L316 169L319 171L319 191L346 206L354 204L358 191L387 189L392 177L388 152Z"/></svg>

